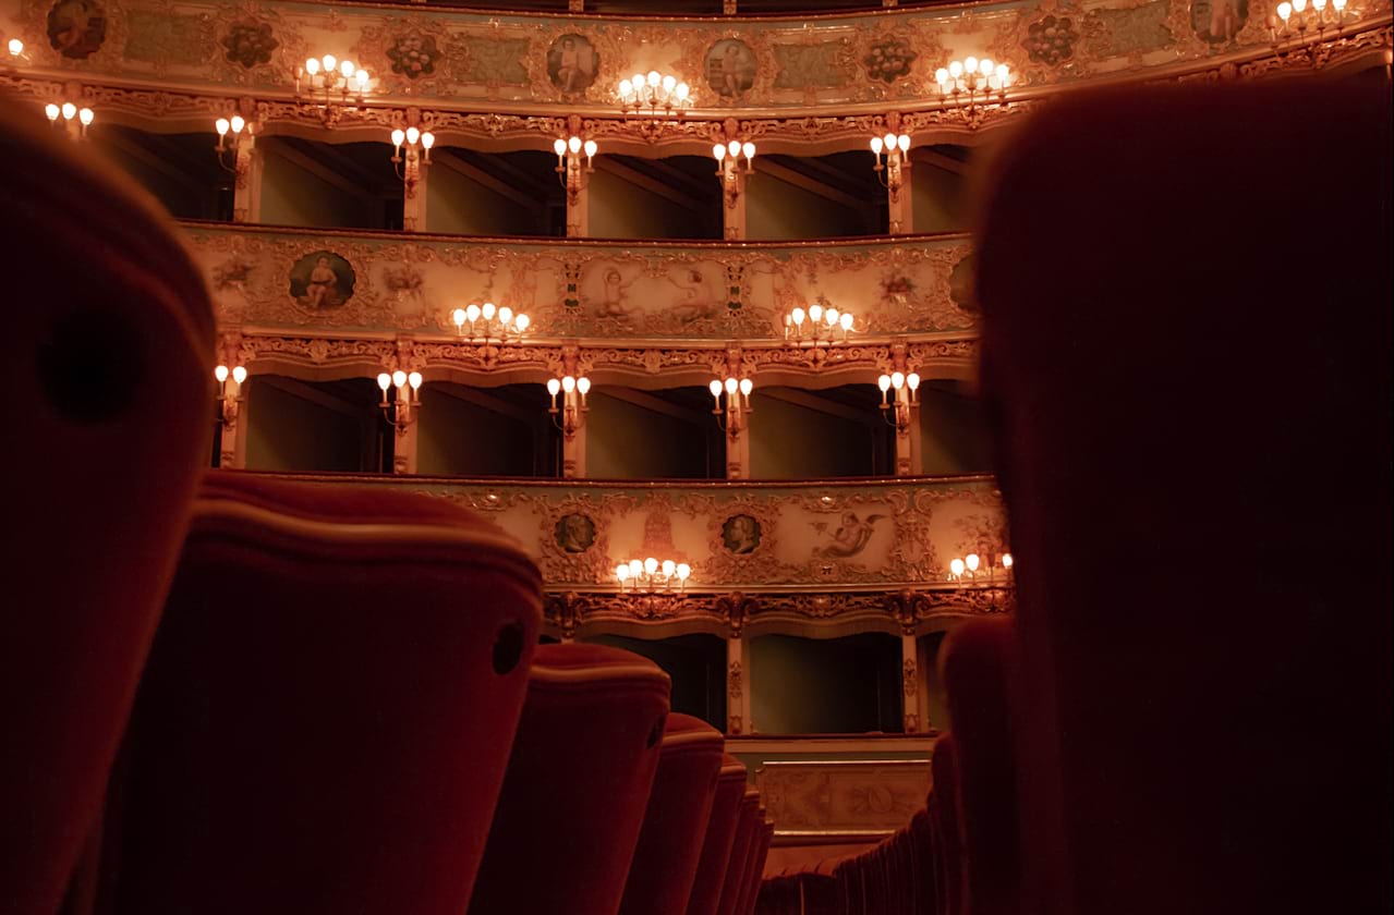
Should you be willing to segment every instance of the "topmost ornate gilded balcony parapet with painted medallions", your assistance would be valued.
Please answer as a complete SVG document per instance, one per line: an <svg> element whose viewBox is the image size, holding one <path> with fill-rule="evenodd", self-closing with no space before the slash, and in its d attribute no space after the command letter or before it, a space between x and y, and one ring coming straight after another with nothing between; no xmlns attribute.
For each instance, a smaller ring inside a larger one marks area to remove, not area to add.
<svg viewBox="0 0 1394 915"><path fill-rule="evenodd" d="M744 132L768 152L836 136L863 148L875 118L892 110L913 116L906 127L917 143L949 142L1061 89L1262 75L1388 47L1388 0L1356 0L1341 24L1277 43L1266 4L1234 3L1230 17L1203 13L1210 6L1082 0L1065 11L1004 0L747 19L305 0L268 8L88 0L79 13L64 0L0 0L0 21L26 49L14 67L21 75L6 77L13 88L47 97L77 81L117 120L206 130L230 96L245 96L265 106L270 132L342 130L381 139L396 110L418 107L431 113L442 143L546 149L574 114L594 121L588 135L608 149L666 143L668 153L705 153L732 117L750 121ZM326 52L372 74L362 106L297 99L296 67ZM1018 74L1006 104L941 97L935 70L969 54ZM615 100L620 79L650 68L693 86L694 107L672 128L641 131L644 118L623 117Z"/></svg>

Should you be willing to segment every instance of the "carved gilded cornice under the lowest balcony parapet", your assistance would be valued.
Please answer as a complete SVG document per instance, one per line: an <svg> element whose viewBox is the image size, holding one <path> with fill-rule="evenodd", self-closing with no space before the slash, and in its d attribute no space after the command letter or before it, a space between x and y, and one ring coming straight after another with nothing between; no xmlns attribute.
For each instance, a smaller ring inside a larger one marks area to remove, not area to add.
<svg viewBox="0 0 1394 915"><path fill-rule="evenodd" d="M542 614L544 628L565 638L693 632L829 638L856 632L924 635L965 618L1011 614L1015 606L1011 586L680 595L566 591L546 595Z"/></svg>

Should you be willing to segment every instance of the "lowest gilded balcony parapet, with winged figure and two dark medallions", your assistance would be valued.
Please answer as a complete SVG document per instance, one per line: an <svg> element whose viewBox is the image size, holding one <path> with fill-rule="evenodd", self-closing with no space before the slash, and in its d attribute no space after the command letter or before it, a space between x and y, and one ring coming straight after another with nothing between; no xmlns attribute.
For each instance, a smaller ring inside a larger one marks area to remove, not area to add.
<svg viewBox="0 0 1394 915"><path fill-rule="evenodd" d="M301 475L393 486L482 513L538 564L555 635L916 635L1009 613L999 567L948 581L949 560L1001 557L991 476L814 482L602 482ZM687 563L679 589L622 589L616 567ZM984 561L986 567L987 561Z"/></svg>

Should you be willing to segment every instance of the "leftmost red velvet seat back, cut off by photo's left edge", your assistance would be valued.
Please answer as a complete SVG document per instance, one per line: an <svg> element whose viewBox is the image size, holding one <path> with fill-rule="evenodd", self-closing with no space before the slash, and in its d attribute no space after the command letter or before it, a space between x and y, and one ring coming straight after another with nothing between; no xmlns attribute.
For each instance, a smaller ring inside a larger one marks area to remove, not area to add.
<svg viewBox="0 0 1394 915"><path fill-rule="evenodd" d="M49 915L100 809L212 435L213 320L128 178L0 107L0 907Z"/></svg>

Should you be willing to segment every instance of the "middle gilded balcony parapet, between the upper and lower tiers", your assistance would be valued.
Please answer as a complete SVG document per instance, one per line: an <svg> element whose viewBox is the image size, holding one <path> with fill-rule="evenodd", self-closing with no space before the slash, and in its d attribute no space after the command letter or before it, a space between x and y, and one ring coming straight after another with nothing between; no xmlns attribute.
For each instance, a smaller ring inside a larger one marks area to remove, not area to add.
<svg viewBox="0 0 1394 915"><path fill-rule="evenodd" d="M565 370L705 386L733 359L778 382L839 370L874 379L902 355L921 373L963 377L976 355L962 234L643 242L184 226L224 348L291 375L376 375L390 363L493 383ZM322 258L335 286L309 297ZM452 312L484 301L527 313L526 336L461 337ZM786 341L785 316L814 301L855 315L845 341Z"/></svg>

